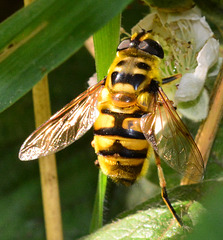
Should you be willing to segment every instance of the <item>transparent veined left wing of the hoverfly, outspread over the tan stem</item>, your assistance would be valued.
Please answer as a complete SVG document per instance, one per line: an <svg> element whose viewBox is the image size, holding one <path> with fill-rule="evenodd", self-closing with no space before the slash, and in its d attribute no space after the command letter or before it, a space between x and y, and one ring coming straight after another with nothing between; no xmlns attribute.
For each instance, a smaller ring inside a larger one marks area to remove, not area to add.
<svg viewBox="0 0 223 240"><path fill-rule="evenodd" d="M97 118L97 98L104 80L88 88L55 113L23 143L19 158L32 160L57 152L83 136Z"/></svg>

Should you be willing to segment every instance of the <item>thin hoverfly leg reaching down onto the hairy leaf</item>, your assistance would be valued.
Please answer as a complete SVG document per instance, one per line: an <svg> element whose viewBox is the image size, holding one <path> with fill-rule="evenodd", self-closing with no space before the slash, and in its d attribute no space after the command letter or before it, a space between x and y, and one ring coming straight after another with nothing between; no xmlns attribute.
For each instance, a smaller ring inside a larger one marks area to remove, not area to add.
<svg viewBox="0 0 223 240"><path fill-rule="evenodd" d="M177 223L182 227L183 226L182 220L177 215L176 211L174 210L173 206L171 205L171 203L168 199L168 195L167 195L167 191L166 191L166 181L164 178L163 169L161 167L160 157L155 151L154 151L154 153L155 153L155 158L156 158L156 165L157 165L157 170L158 170L159 183L160 183L160 187L161 187L162 199L165 202L165 204L167 205L167 207L169 208L173 217L176 219Z"/></svg>

